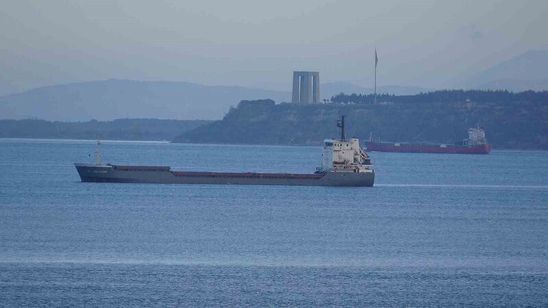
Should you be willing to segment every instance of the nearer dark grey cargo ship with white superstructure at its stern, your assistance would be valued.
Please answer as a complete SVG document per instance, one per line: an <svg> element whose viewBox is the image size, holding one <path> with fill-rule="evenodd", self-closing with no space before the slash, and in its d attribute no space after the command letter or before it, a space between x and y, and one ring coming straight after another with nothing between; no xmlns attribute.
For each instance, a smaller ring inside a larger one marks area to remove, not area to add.
<svg viewBox="0 0 548 308"><path fill-rule="evenodd" d="M373 164L358 138L346 138L345 116L337 126L341 129L340 139L323 141L322 164L314 173L175 171L170 166L101 164L99 138L95 164L75 163L75 167L82 182L373 186Z"/></svg>

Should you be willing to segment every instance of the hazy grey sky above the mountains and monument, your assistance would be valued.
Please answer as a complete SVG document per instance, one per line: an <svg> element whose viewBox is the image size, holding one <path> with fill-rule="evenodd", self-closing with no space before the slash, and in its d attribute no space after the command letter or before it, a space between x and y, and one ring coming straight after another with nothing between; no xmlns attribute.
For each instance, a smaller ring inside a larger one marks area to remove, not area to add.
<svg viewBox="0 0 548 308"><path fill-rule="evenodd" d="M451 86L548 49L548 1L0 2L0 94L109 78L290 91L322 82Z"/></svg>

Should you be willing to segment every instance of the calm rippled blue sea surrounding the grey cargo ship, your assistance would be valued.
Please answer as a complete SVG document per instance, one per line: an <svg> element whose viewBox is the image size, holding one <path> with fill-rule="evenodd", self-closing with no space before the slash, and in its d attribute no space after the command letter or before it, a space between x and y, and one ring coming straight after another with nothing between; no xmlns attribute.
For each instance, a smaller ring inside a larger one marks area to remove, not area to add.
<svg viewBox="0 0 548 308"><path fill-rule="evenodd" d="M0 140L0 306L547 306L548 152L371 153L373 188L81 183ZM103 142L103 162L312 172L316 147Z"/></svg>

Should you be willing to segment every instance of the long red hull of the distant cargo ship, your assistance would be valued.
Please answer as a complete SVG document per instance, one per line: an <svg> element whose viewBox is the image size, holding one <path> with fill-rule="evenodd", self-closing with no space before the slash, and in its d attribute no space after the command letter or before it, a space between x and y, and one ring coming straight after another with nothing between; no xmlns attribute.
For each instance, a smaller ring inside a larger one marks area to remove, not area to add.
<svg viewBox="0 0 548 308"><path fill-rule="evenodd" d="M400 153L452 153L452 154L488 154L490 144L479 146L453 146L442 144L399 144L392 142L365 142L367 151Z"/></svg>

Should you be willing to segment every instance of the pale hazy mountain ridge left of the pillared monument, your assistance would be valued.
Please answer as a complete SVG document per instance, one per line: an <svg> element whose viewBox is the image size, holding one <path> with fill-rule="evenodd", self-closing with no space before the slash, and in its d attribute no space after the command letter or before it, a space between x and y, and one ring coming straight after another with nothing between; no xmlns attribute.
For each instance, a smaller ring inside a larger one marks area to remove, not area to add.
<svg viewBox="0 0 548 308"><path fill-rule="evenodd" d="M35 88L0 97L0 119L85 121L223 117L242 98L288 101L289 92L190 82L108 79Z"/></svg>

